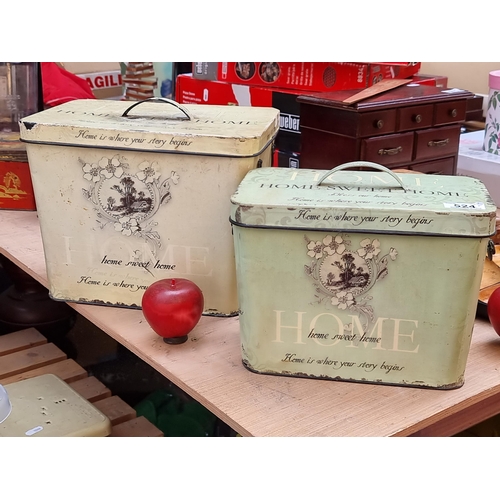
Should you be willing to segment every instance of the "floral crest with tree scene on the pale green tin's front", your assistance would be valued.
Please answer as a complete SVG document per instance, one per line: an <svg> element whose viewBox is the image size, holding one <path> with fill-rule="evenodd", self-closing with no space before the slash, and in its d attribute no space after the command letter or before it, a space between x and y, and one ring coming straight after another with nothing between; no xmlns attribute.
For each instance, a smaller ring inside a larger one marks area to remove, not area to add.
<svg viewBox="0 0 500 500"><path fill-rule="evenodd" d="M340 233L319 240L304 238L312 259L304 271L314 282L316 302L358 314L367 331L375 317L368 292L388 275L389 260L396 260L397 250L381 255L377 238L365 238L359 248L350 250L351 241Z"/></svg>

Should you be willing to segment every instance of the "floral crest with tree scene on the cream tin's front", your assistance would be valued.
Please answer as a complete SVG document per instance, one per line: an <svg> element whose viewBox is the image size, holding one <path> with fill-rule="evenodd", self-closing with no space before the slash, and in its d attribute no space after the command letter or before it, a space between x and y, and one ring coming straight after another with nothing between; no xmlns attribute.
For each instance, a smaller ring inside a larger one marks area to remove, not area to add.
<svg viewBox="0 0 500 500"><path fill-rule="evenodd" d="M158 162L148 161L139 163L132 173L127 159L119 154L104 156L97 163L79 161L89 183L83 195L94 205L100 228L112 225L123 236L144 238L156 254L161 239L154 230L158 224L154 216L171 200L179 175L172 171L162 179Z"/></svg>

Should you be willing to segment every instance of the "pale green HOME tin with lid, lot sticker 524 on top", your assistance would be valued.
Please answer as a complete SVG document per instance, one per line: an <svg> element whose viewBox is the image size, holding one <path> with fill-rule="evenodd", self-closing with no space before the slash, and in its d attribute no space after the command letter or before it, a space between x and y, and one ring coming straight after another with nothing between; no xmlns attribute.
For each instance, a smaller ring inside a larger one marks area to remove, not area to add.
<svg viewBox="0 0 500 500"><path fill-rule="evenodd" d="M231 202L248 369L439 389L464 383L495 232L496 207L480 181L397 175L368 162L327 172L265 168L247 174Z"/></svg>

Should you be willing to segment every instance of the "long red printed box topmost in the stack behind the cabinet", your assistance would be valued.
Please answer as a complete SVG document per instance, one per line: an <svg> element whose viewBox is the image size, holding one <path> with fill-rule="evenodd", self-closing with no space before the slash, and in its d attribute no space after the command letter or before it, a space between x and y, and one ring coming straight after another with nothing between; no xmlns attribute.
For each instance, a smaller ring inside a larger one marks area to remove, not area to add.
<svg viewBox="0 0 500 500"><path fill-rule="evenodd" d="M197 68L202 63L194 63ZM211 64L211 63L207 63ZM252 86L327 92L363 89L384 78L409 78L420 63L382 64L360 62L219 62L217 80ZM198 65L198 66L196 66ZM204 75L211 71L205 67ZM197 76L196 73L194 74Z"/></svg>

